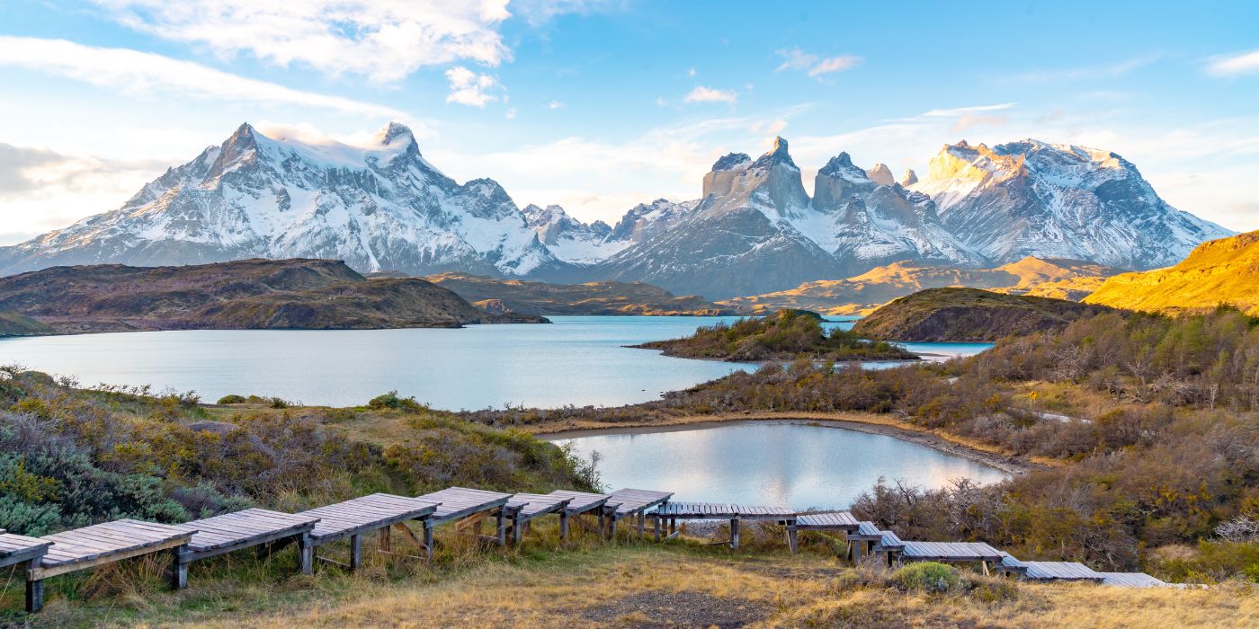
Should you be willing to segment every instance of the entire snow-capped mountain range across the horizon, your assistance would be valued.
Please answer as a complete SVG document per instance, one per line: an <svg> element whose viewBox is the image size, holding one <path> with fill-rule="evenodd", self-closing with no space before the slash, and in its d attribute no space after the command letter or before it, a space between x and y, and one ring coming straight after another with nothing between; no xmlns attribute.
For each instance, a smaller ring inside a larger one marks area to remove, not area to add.
<svg viewBox="0 0 1259 629"><path fill-rule="evenodd" d="M1025 140L940 150L899 181L840 152L813 195L788 143L729 153L700 199L617 221L519 208L491 179L458 184L390 123L369 146L242 125L121 208L0 248L0 274L52 265L335 258L359 272L648 282L709 299L792 289L910 262L992 268L1027 255L1149 269L1231 231L1170 206L1115 153Z"/></svg>

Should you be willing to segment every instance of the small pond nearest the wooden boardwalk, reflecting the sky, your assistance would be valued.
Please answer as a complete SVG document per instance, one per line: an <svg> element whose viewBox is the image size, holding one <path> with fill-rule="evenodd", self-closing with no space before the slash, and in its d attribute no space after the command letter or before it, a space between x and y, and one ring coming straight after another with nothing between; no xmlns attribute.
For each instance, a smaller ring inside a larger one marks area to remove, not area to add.
<svg viewBox="0 0 1259 629"><path fill-rule="evenodd" d="M674 492L674 499L847 508L879 477L939 488L953 478L992 483L1006 473L894 437L823 425L745 421L555 439L598 452L603 483Z"/></svg>

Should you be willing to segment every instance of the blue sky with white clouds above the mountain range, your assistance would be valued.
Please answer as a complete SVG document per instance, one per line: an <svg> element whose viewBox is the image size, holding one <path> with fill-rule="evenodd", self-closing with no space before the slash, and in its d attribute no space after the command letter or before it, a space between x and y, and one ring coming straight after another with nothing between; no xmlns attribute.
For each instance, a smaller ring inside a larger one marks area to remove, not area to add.
<svg viewBox="0 0 1259 629"><path fill-rule="evenodd" d="M274 5L274 6L272 6ZM118 208L242 122L365 142L616 221L791 143L924 174L944 143L1114 151L1259 229L1259 3L14 0L0 4L0 245Z"/></svg>

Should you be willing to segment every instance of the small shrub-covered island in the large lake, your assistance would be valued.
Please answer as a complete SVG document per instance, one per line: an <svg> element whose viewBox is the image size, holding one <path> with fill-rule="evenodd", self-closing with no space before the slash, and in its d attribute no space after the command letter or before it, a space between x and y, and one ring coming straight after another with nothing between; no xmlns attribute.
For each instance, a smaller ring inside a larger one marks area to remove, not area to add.
<svg viewBox="0 0 1259 629"><path fill-rule="evenodd" d="M743 318L731 325L700 327L692 336L635 345L662 350L665 356L684 359L759 362L769 360L918 360L903 347L866 341L846 330L822 327L816 312L782 309L759 318Z"/></svg>

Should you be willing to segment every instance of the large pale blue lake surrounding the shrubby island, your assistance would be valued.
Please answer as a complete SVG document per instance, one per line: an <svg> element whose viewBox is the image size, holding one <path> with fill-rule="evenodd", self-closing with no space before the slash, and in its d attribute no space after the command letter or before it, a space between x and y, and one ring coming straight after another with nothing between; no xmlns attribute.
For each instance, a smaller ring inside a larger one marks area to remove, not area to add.
<svg viewBox="0 0 1259 629"><path fill-rule="evenodd" d="M657 399L755 365L672 359L623 347L687 336L735 317L550 317L551 325L460 330L193 330L0 340L0 364L83 385L152 385L279 396L332 406L398 390L441 409L621 405ZM851 321L828 323L849 327ZM987 343L904 343L968 355ZM875 365L870 366L885 366Z"/></svg>

